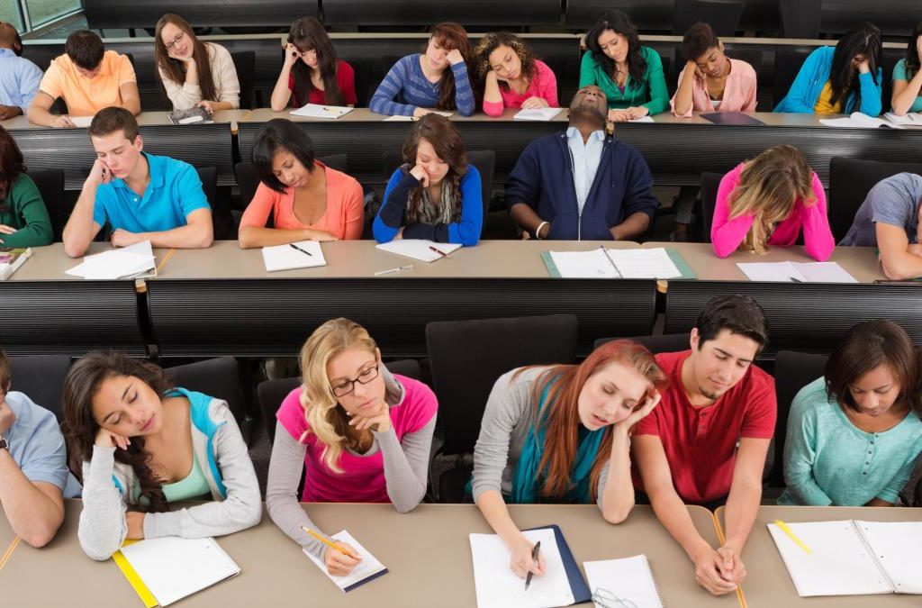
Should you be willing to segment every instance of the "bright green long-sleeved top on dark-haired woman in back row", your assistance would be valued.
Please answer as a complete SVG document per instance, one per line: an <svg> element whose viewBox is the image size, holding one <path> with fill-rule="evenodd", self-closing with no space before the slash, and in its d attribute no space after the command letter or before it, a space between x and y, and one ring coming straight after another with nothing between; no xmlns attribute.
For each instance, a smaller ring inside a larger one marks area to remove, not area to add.
<svg viewBox="0 0 922 608"><path fill-rule="evenodd" d="M609 110L644 106L650 111L651 116L666 112L669 108L669 91L666 88L666 77L663 75L663 60L649 46L640 47L640 54L646 61L643 82L639 87L633 87L633 80L629 74L624 83L624 92L621 92L611 79L611 75L598 64L592 51L586 51L579 68L580 89L588 85L597 85L609 98Z"/></svg>

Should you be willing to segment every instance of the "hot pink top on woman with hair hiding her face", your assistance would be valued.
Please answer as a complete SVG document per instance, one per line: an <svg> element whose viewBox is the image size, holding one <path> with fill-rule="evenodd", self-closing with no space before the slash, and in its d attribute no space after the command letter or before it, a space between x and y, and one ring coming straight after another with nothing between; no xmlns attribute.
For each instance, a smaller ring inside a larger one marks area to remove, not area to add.
<svg viewBox="0 0 922 608"><path fill-rule="evenodd" d="M724 175L720 180L720 187L717 188L711 244L718 257L727 257L739 249L739 244L746 238L755 220L753 214L729 219L729 197L739 185L739 173L742 169L743 164L739 163L736 169ZM823 192L822 183L816 173L813 173L813 196L816 197L816 201L810 205L804 205L801 199L795 201L790 217L775 227L768 244L789 247L797 242L800 229L803 228L804 249L810 257L822 262L833 254L835 240L829 227L829 219L826 217L826 193Z"/></svg>

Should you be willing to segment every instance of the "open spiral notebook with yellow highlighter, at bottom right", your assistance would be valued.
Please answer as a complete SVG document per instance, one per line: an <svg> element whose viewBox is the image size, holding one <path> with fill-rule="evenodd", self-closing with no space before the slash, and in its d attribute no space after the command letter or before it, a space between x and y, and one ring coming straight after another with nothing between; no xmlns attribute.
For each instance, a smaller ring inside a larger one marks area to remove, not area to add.
<svg viewBox="0 0 922 608"><path fill-rule="evenodd" d="M787 527L807 553L774 523L778 553L800 597L922 594L922 521L816 521Z"/></svg>

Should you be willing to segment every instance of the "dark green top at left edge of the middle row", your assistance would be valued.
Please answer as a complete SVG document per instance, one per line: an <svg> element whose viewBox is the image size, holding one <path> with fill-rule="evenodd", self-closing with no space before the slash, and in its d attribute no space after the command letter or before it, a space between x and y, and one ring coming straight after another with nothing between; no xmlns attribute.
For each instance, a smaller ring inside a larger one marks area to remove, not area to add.
<svg viewBox="0 0 922 608"><path fill-rule="evenodd" d="M0 199L0 224L15 228L13 234L0 233L5 247L38 247L52 243L52 221L41 200L39 188L26 173L19 173L6 198Z"/></svg>

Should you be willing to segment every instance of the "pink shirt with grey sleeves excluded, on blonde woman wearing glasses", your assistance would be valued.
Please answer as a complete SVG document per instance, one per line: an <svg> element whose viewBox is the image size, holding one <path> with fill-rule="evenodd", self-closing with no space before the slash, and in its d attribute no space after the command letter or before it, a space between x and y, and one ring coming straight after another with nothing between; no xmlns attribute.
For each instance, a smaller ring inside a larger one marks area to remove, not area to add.
<svg viewBox="0 0 922 608"><path fill-rule="evenodd" d="M391 406L391 424L397 440L419 431L435 415L435 394L418 380L394 376L404 387L404 398ZM296 440L309 426L301 408L301 387L292 390L276 414L278 422ZM381 450L367 456L344 449L339 457L343 472L331 471L324 464L324 444L309 434L302 442L307 446L304 457L304 493L301 502L311 503L389 503L384 480L384 456Z"/></svg>

